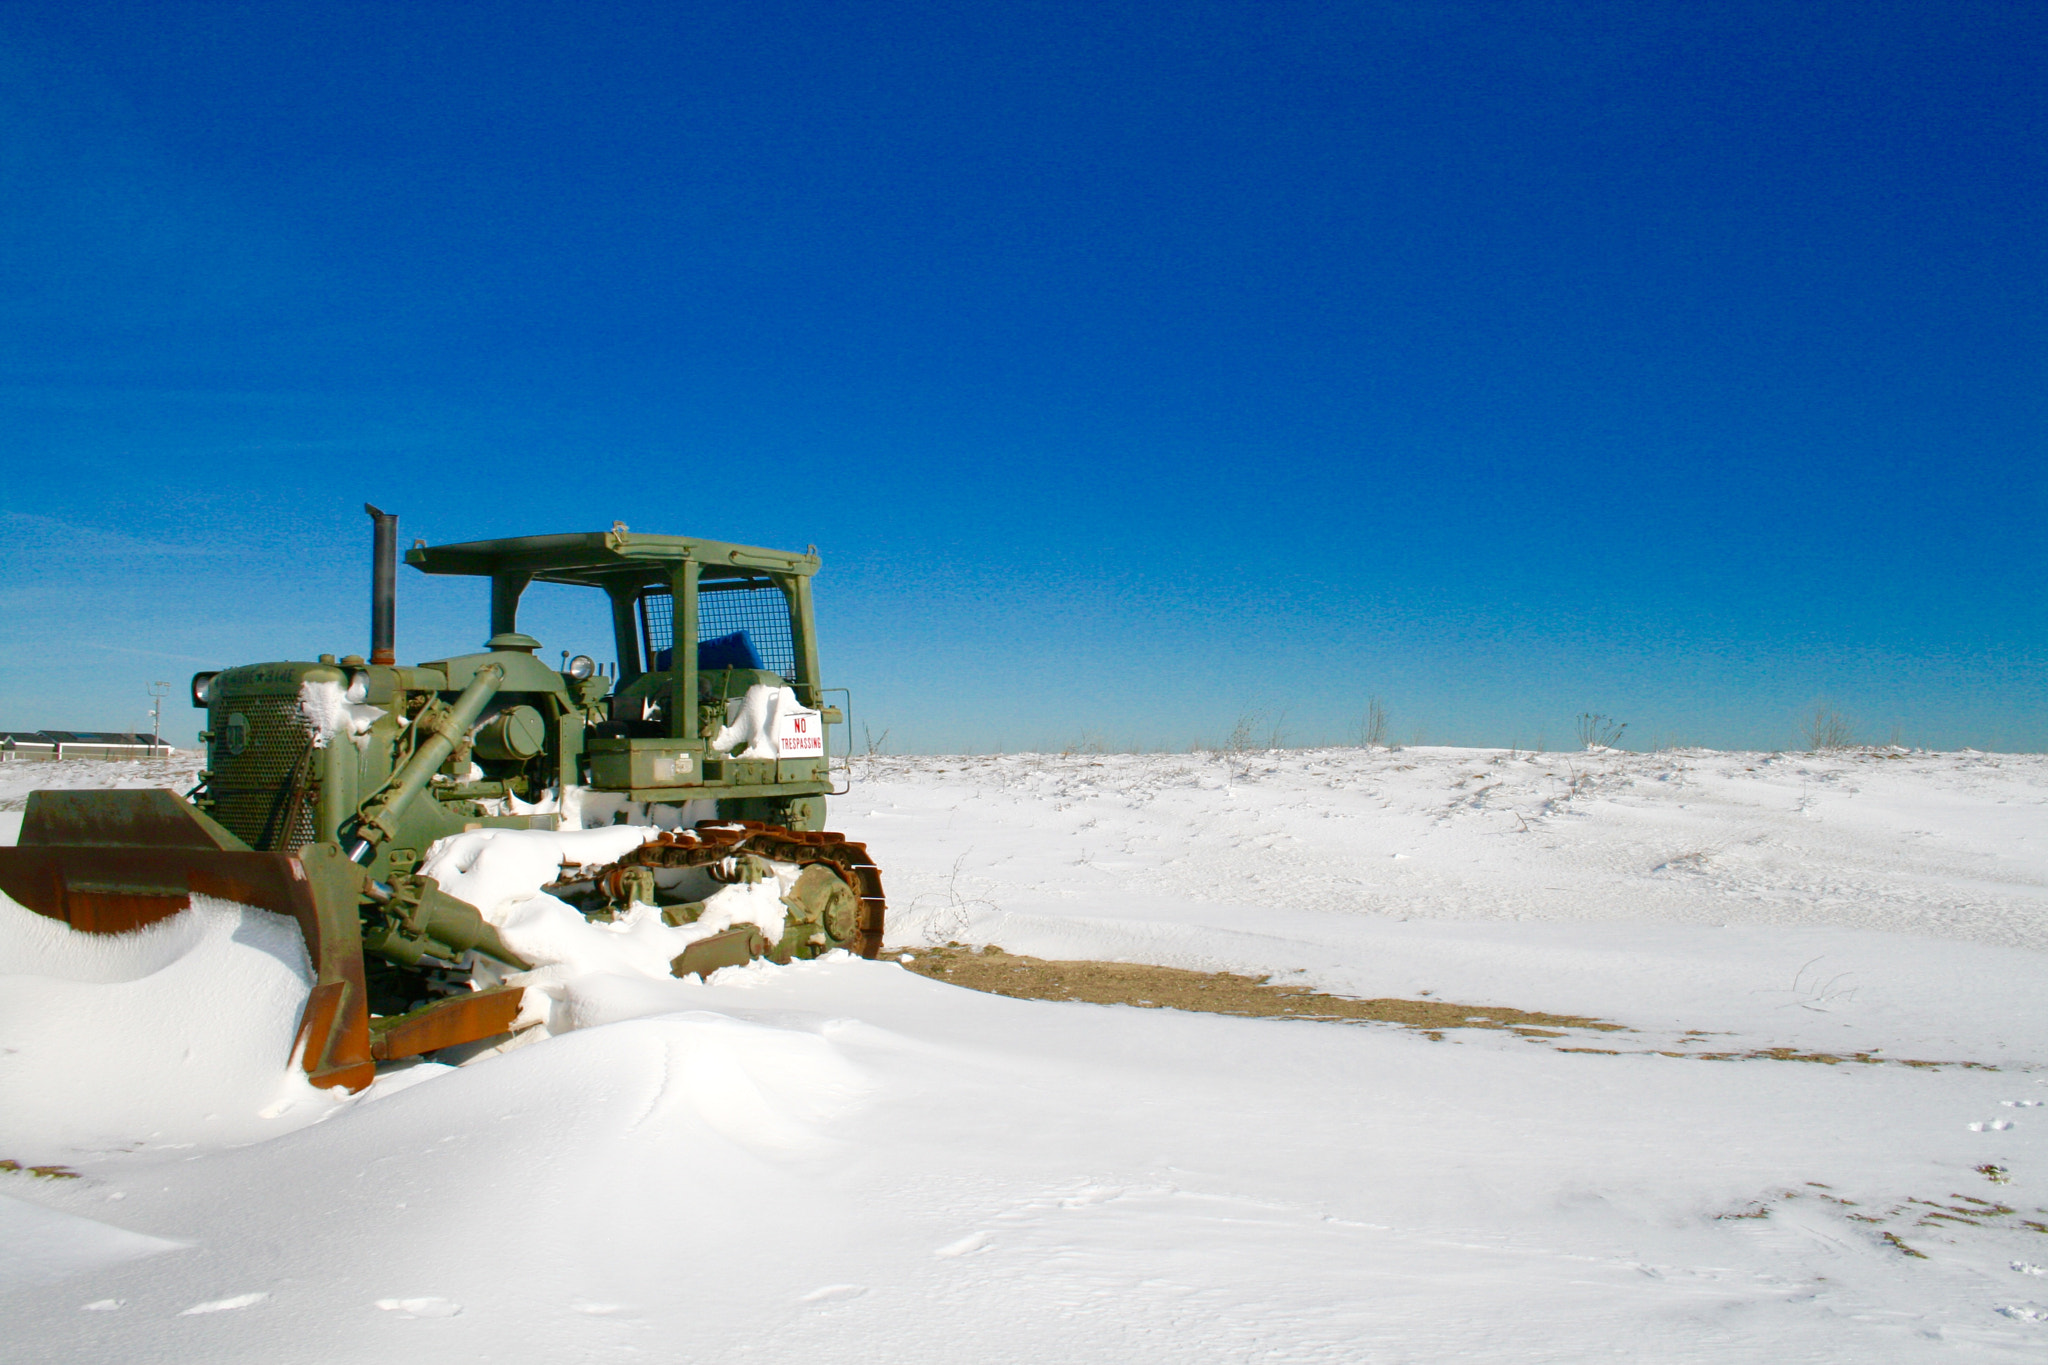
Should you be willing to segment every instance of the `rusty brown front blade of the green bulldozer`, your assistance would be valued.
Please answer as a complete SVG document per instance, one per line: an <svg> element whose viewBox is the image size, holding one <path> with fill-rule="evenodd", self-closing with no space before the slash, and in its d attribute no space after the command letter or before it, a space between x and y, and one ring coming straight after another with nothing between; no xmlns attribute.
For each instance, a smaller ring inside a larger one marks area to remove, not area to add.
<svg viewBox="0 0 2048 1365"><path fill-rule="evenodd" d="M20 843L0 847L0 892L84 933L170 919L193 896L299 921L313 990L293 1058L319 1087L377 1074L356 913L365 874L332 843L256 853L176 792L33 792Z"/></svg>

